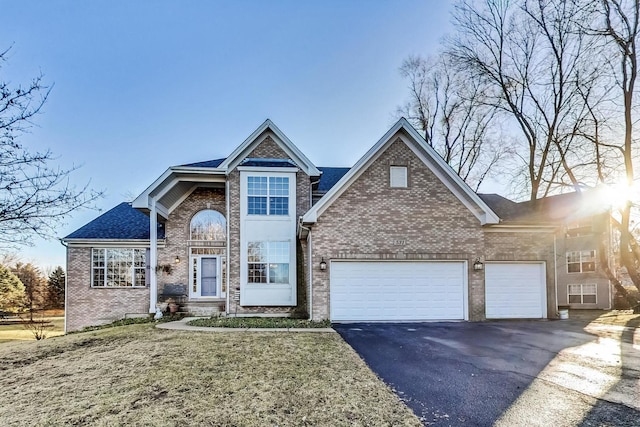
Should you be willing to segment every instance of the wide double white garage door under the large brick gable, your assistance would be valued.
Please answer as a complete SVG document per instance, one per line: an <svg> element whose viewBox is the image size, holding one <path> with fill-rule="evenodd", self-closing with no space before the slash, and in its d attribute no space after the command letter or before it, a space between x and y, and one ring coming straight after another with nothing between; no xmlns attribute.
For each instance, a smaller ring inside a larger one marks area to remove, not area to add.
<svg viewBox="0 0 640 427"><path fill-rule="evenodd" d="M332 261L331 320L466 319L466 263Z"/></svg>

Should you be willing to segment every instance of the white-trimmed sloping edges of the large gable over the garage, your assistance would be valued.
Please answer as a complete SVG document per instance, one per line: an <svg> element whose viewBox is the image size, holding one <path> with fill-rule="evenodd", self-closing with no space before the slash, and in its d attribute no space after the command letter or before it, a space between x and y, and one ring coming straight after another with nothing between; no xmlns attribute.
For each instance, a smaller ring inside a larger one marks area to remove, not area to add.
<svg viewBox="0 0 640 427"><path fill-rule="evenodd" d="M391 129L332 186L327 194L303 216L302 222L307 224L315 223L318 217L386 150L395 140L394 137L396 135L399 136L431 172L447 186L458 200L478 218L481 224L497 224L500 222L500 219L491 208L451 169L442 157L427 144L404 117L398 120Z"/></svg>

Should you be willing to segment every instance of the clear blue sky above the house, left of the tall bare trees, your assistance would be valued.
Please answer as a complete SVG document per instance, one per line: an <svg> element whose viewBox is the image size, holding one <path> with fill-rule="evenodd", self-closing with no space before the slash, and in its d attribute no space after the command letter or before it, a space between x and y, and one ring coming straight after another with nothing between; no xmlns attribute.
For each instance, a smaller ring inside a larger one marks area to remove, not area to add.
<svg viewBox="0 0 640 427"><path fill-rule="evenodd" d="M3 1L0 77L54 84L21 142L51 149L106 211L167 167L226 157L265 119L318 166L351 166L407 99L398 73L435 54L450 3ZM63 237L99 215L79 211ZM63 265L57 241L20 256Z"/></svg>

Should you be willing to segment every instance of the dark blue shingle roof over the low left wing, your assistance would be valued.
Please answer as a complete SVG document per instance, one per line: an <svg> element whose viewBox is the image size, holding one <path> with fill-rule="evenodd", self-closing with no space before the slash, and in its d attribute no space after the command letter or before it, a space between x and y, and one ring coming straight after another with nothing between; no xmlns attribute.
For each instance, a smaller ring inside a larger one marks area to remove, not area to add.
<svg viewBox="0 0 640 427"><path fill-rule="evenodd" d="M164 239L164 227L158 225L158 238ZM66 239L149 239L149 217L123 202L103 213Z"/></svg>

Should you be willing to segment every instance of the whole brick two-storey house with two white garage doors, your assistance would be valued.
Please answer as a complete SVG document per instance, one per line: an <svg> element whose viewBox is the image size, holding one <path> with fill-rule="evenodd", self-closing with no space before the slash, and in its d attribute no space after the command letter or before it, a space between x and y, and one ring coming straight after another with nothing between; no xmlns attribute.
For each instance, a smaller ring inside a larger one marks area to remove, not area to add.
<svg viewBox="0 0 640 427"><path fill-rule="evenodd" d="M558 226L491 206L405 119L352 168L314 166L267 120L63 239L66 330L167 298L332 321L556 317Z"/></svg>

